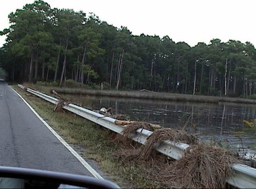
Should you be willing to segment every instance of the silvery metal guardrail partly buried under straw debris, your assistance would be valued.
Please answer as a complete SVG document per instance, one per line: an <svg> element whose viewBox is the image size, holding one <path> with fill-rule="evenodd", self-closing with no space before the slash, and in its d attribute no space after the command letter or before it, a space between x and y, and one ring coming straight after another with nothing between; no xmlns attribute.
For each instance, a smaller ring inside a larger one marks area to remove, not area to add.
<svg viewBox="0 0 256 189"><path fill-rule="evenodd" d="M18 87L24 89L24 86L22 85L18 85ZM30 88L27 88L27 91L53 104L58 103L57 98L45 95L44 93L32 90ZM63 108L119 134L122 134L122 131L125 127L116 125L116 119L105 117L102 114L96 113L91 110L87 110L75 104L68 104ZM149 130L138 129L136 131L136 134L133 134L131 138L132 140L139 142L140 144L145 144L147 138L151 134L152 132ZM184 150L188 148L188 146L188 144L184 144L181 142L175 143L172 141L164 141L160 146L155 147L155 149L158 152L177 160L183 157ZM228 184L233 185L237 188L256 188L256 169L241 164L233 164L232 169L234 169L235 175L227 179Z"/></svg>

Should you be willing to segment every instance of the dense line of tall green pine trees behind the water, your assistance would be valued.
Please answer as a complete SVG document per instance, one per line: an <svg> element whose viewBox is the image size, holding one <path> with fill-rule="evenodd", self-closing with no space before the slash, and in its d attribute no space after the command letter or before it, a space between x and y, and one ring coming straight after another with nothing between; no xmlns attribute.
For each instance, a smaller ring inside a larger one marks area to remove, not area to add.
<svg viewBox="0 0 256 189"><path fill-rule="evenodd" d="M61 86L72 79L117 90L244 98L256 93L256 50L250 42L212 39L190 47L168 36L132 35L93 13L51 8L41 0L8 18L10 28L0 32L7 35L0 65L9 80Z"/></svg>

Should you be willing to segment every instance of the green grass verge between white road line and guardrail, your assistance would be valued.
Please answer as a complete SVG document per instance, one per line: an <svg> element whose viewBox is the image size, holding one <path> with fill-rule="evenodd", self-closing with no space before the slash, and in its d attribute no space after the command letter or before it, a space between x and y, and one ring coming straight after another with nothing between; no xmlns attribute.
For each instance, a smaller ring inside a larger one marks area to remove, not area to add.
<svg viewBox="0 0 256 189"><path fill-rule="evenodd" d="M108 178L124 188L161 188L161 183L147 178L145 165L123 162L116 157L122 144L116 134L69 112L54 112L53 104L12 86L66 142L79 146L84 158L97 161ZM125 144L124 144L125 145Z"/></svg>

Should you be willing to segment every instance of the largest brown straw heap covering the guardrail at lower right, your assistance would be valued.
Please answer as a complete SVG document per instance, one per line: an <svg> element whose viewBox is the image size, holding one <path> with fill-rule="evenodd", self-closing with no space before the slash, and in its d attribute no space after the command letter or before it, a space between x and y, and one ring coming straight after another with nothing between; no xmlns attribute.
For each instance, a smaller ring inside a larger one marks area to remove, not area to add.
<svg viewBox="0 0 256 189"><path fill-rule="evenodd" d="M169 167L181 188L225 188L232 176L231 164L238 162L234 154L211 144L190 146L184 157Z"/></svg>

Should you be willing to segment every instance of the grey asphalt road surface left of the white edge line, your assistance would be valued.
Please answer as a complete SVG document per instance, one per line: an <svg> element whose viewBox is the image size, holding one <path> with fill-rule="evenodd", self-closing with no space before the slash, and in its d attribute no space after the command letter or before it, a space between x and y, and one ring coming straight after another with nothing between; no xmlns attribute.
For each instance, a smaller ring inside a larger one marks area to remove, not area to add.
<svg viewBox="0 0 256 189"><path fill-rule="evenodd" d="M0 82L0 166L92 176L5 82Z"/></svg>

